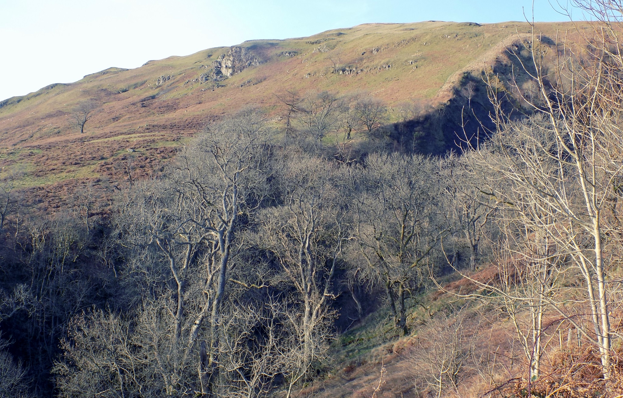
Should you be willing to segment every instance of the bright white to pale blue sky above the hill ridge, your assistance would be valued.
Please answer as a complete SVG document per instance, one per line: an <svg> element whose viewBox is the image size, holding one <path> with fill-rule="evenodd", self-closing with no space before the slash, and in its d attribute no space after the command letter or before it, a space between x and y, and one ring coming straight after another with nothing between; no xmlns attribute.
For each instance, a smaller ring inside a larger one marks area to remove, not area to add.
<svg viewBox="0 0 623 398"><path fill-rule="evenodd" d="M564 0L563 0L564 1ZM528 0L0 0L0 100L108 67L365 22L523 21ZM536 21L563 21L535 0Z"/></svg>

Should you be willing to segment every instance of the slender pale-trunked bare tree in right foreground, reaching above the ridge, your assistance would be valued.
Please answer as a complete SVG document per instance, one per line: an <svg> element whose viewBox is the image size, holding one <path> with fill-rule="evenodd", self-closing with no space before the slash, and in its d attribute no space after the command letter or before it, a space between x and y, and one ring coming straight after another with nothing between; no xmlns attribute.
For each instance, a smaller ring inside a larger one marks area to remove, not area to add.
<svg viewBox="0 0 623 398"><path fill-rule="evenodd" d="M476 173L488 173L481 191L497 201L498 209L523 225L528 240L548 242L583 281L575 295L589 309L586 317L571 313L563 297L540 298L595 344L604 379L609 379L614 290L608 278L621 236L616 181L623 168L622 14L619 2L574 4L596 16L594 32L578 30L583 42L561 37L556 62L549 65L546 44L537 40L534 26L530 40L520 39L530 62L520 54L516 59L538 87L538 100L523 95L515 82L511 85L536 115L525 123L506 120L500 80L490 78L498 131L490 144L474 149L472 164ZM536 252L541 253L533 258L536 263L552 256L549 250Z"/></svg>

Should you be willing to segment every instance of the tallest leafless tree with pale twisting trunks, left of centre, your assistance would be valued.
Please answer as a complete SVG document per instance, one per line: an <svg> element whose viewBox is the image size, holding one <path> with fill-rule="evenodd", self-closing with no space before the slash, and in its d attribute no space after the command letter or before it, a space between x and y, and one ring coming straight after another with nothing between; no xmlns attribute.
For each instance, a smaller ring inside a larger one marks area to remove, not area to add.
<svg viewBox="0 0 623 398"><path fill-rule="evenodd" d="M142 290L141 338L168 394L193 388L184 379L216 394L232 251L239 217L264 196L266 137L254 111L210 125L183 149L170 178L136 186L120 209L124 245L135 248L130 277ZM202 345L207 356L198 366Z"/></svg>

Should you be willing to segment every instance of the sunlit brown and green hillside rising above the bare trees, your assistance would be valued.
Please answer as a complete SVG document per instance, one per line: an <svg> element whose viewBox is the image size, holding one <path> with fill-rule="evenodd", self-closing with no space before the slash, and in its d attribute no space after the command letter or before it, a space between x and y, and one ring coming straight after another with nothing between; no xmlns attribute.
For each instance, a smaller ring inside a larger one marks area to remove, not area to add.
<svg viewBox="0 0 623 398"><path fill-rule="evenodd" d="M565 25L537 30L555 35ZM364 24L109 68L0 102L0 178L18 171L19 186L53 210L79 182L121 181L129 162L136 178L150 175L209 120L252 105L278 121L277 97L286 90L367 92L390 108L439 107L452 100L464 72L500 62L506 46L528 32L517 22ZM70 115L87 100L97 110L80 134Z"/></svg>

